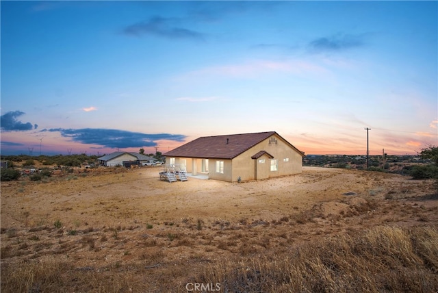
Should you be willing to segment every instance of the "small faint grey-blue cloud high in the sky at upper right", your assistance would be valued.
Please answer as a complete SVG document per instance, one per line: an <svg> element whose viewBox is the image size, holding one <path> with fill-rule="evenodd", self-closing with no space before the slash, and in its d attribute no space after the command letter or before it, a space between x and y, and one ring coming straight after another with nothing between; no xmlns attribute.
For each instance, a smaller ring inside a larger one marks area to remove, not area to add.
<svg viewBox="0 0 438 293"><path fill-rule="evenodd" d="M311 53L320 53L326 51L344 51L364 45L363 35L337 34L335 36L316 38L309 42L308 47Z"/></svg>

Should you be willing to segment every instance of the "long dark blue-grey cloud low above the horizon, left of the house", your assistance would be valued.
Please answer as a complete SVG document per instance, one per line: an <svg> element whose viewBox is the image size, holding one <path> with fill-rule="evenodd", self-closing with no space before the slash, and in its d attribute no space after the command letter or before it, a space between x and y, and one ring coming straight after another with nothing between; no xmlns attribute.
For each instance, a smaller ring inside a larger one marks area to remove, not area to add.
<svg viewBox="0 0 438 293"><path fill-rule="evenodd" d="M143 146L157 146L156 140L173 140L183 142L185 136L182 134L156 133L146 134L118 129L43 129L42 132L60 132L64 138L70 138L74 142L83 144L97 144L109 148L131 148Z"/></svg>

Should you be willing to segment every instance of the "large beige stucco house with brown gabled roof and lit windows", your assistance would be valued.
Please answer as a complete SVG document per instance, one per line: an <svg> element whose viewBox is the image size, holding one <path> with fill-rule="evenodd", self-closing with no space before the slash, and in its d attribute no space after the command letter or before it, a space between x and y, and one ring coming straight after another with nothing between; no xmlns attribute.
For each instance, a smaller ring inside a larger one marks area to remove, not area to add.
<svg viewBox="0 0 438 293"><path fill-rule="evenodd" d="M205 136L164 155L193 176L230 182L301 173L305 156L275 131Z"/></svg>

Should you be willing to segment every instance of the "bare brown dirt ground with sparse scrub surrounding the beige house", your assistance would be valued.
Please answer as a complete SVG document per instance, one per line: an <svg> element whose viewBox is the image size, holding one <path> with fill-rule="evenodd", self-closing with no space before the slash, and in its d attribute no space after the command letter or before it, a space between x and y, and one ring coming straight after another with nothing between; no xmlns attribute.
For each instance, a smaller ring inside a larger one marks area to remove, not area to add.
<svg viewBox="0 0 438 293"><path fill-rule="evenodd" d="M188 292L196 291L188 283L209 279L204 291L239 292L214 279L218 266L283 258L376 227L437 230L431 180L304 167L262 181L169 183L160 170L99 167L2 182L1 291ZM425 288L438 286L430 262ZM285 288L270 291L293 292Z"/></svg>

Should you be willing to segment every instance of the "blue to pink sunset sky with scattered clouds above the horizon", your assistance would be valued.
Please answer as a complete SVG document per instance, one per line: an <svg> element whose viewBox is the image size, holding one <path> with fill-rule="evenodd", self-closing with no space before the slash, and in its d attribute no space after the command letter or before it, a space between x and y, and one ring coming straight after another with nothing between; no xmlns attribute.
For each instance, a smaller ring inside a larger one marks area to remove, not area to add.
<svg viewBox="0 0 438 293"><path fill-rule="evenodd" d="M437 1L1 1L1 155L438 145ZM367 131L365 128L369 128Z"/></svg>

